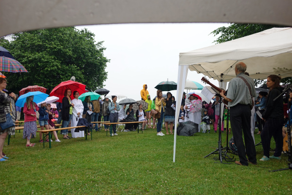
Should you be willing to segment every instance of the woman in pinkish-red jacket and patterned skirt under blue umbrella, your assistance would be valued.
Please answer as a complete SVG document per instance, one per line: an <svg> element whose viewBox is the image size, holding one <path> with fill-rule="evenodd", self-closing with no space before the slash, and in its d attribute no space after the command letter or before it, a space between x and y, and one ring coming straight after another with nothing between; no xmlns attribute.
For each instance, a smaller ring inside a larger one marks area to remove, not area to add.
<svg viewBox="0 0 292 195"><path fill-rule="evenodd" d="M24 103L23 113L24 113L24 127L23 127L23 138L26 138L26 147L35 146L35 143L31 143L31 137L36 137L37 134L37 114L36 111L39 110L37 104L33 101L34 96L29 96L26 98Z"/></svg>

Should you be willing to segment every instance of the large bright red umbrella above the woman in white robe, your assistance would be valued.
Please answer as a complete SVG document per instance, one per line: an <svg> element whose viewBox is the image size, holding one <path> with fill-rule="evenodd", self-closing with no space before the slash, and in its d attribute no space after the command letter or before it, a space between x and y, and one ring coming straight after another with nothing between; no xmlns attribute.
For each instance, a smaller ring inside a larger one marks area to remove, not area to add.
<svg viewBox="0 0 292 195"><path fill-rule="evenodd" d="M62 99L64 97L64 92L66 89L71 89L72 94L71 94L71 99L73 99L73 92L77 91L80 95L85 93L85 87L86 85L80 83L80 82L75 82L73 80L67 80L64 82L61 82L58 84L50 93L50 96L55 96L58 97L59 100L58 102L62 102Z"/></svg>

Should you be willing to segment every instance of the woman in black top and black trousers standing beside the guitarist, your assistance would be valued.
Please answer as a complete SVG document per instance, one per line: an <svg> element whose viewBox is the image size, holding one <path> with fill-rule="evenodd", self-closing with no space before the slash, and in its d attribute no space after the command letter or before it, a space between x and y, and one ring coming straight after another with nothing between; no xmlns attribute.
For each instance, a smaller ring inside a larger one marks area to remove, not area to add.
<svg viewBox="0 0 292 195"><path fill-rule="evenodd" d="M281 78L277 75L270 75L267 78L267 87L270 88L270 92L267 98L266 110L262 114L263 120L265 120L265 126L260 133L262 146L264 150L264 156L260 161L267 161L270 158L281 159L282 147L283 147L283 96L280 96L274 101L274 98L278 97L282 91L279 89ZM271 138L274 137L276 143L276 149L273 156L270 156Z"/></svg>

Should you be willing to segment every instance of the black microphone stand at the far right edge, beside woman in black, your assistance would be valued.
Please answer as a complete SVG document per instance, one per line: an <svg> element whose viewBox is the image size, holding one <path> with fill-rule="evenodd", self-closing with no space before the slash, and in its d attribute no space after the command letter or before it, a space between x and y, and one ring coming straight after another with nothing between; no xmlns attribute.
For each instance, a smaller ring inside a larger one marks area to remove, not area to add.
<svg viewBox="0 0 292 195"><path fill-rule="evenodd" d="M292 84L289 84L286 86L286 88L283 90L283 92L276 98L274 98L273 100L276 100L277 98L279 98L280 96L282 96L284 93L286 93L286 98L287 98L287 103L289 105L289 91L291 91ZM288 106L289 107L289 106ZM291 152L292 152L292 145L291 145L291 124L290 124L290 110L288 108L288 125L287 125L287 137L288 137L288 168L284 168L284 169L278 169L278 170L273 170L270 172L275 172L275 171L283 171L283 170L288 170L288 169L292 169L292 157L291 157Z"/></svg>

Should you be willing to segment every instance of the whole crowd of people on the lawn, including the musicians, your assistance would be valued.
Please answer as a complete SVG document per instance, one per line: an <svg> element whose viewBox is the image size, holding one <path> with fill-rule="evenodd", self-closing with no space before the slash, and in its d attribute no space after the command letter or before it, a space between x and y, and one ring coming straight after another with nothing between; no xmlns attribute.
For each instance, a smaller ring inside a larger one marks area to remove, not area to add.
<svg viewBox="0 0 292 195"><path fill-rule="evenodd" d="M216 99L212 103L202 102L195 94L186 95L183 92L181 106L179 110L179 120L175 121L176 113L176 100L170 92L163 97L161 90L157 90L156 97L151 99L147 90L147 85L143 85L141 90L141 98L147 103L147 107L143 108L140 103L138 109L134 113L133 104L119 105L117 97L112 96L109 98L97 99L91 101L91 96L87 96L84 101L79 99L79 93L71 89L66 89L62 102L56 102L56 109L51 108L51 104L46 102L37 105L34 102L34 96L26 98L23 107L24 114L24 127L23 138L26 139L26 147L33 147L36 143L31 142L32 137L36 137L37 132L37 112L38 123L40 129L55 129L55 123L53 119L55 116L56 123L61 124L63 130L60 134L63 139L71 139L76 137L84 137L84 131L74 131L71 129L71 136L69 136L69 129L64 129L69 126L77 126L79 119L85 118L89 123L101 121L113 122L133 122L144 121L142 123L142 130L147 128L157 129L157 136L165 136L162 133L163 122L165 122L166 135L173 134L174 126L178 123L192 121L198 124L199 132L210 133L211 124L213 124L214 132L226 130L231 134L231 130L234 136L235 144L237 146L237 153L239 161L236 161L238 165L256 164L256 148L254 130L257 124L261 137L263 154L264 156L260 161L267 161L271 158L281 159L283 136L287 134L285 132L284 124L284 108L283 97L280 96L275 101L274 98L281 94L279 88L280 77L276 75L270 75L267 78L267 86L270 88L269 93L260 92L255 106L253 101L256 97L254 80L246 73L246 65L242 62L237 63L235 66L236 78L233 78L228 86L228 93L222 91L220 94L216 94ZM17 97L14 93L7 93L5 88L7 86L7 80L0 78L0 123L6 121L6 115L10 114L12 121L15 123L20 118L21 108L15 106ZM71 94L73 93L73 99ZM220 120L220 98L228 101L228 105L223 108L223 118ZM292 93L290 93L292 98ZM291 101L291 99L290 99ZM263 110L262 118L255 114L255 108ZM151 119L153 123L151 124ZM287 126L287 125L286 125ZM105 131L109 131L109 126L104 124ZM125 132L135 131L138 127L137 123L127 123L125 125ZM101 123L95 123L95 131L101 130ZM168 131L169 129L169 131ZM283 130L282 130L283 129ZM57 130L57 128L55 129ZM244 135L244 142L242 137ZM88 135L90 132L87 131ZM0 161L8 159L3 154L3 144L7 135L15 134L15 126L6 129L0 127ZM53 131L55 141L60 142L56 131ZM112 135L118 136L117 125L112 125ZM43 140L42 134L39 134L39 142L49 141L48 138ZM270 144L271 138L274 137L276 148L273 156L270 156ZM51 140L53 141L53 140ZM245 145L244 145L245 143ZM246 154L248 158L246 157Z"/></svg>

